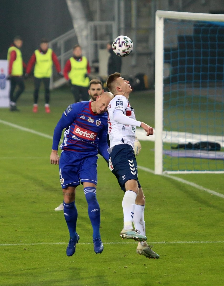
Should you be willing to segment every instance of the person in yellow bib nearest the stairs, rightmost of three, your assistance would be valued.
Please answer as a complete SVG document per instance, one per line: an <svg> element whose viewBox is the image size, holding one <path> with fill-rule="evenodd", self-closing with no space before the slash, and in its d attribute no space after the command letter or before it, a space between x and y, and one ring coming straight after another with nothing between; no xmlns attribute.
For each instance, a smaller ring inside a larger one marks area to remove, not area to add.
<svg viewBox="0 0 224 286"><path fill-rule="evenodd" d="M86 57L82 56L80 45L75 45L73 56L68 59L64 66L64 78L72 85L71 91L74 96L74 102L89 100L89 74L89 62Z"/></svg>

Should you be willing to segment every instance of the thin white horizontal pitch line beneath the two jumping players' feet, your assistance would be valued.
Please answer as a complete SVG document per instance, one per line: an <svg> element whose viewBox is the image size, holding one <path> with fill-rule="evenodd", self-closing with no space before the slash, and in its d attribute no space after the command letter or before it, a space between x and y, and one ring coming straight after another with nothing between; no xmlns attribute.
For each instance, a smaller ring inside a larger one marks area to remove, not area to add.
<svg viewBox="0 0 224 286"><path fill-rule="evenodd" d="M224 243L224 241L156 241L150 242L150 244L196 244L196 243ZM18 246L18 245L67 245L67 242L38 242L38 243L11 243L0 244L0 246ZM78 243L79 245L92 245L90 242ZM104 242L104 244L136 244L136 242Z"/></svg>

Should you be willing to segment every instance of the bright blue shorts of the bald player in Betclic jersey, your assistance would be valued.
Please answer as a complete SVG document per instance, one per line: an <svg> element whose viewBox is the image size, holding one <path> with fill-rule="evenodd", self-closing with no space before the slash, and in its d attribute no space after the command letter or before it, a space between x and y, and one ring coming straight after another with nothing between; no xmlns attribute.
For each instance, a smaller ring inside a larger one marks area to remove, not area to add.
<svg viewBox="0 0 224 286"><path fill-rule="evenodd" d="M78 186L83 182L97 184L96 155L63 151L59 160L60 183L63 188Z"/></svg>

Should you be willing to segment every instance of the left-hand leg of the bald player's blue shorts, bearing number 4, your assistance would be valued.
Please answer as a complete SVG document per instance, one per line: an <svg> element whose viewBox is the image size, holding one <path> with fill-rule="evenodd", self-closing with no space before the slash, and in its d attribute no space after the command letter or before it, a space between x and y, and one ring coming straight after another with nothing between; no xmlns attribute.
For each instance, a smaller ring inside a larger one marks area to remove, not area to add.
<svg viewBox="0 0 224 286"><path fill-rule="evenodd" d="M79 180L79 160L72 152L61 152L59 160L59 175L62 188L68 186L78 186Z"/></svg>

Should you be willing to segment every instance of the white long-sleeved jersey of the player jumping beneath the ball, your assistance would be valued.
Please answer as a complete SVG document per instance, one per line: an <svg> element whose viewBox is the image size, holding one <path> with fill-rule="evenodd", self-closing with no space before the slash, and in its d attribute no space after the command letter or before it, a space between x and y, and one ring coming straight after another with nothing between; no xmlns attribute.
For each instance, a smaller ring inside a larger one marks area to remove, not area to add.
<svg viewBox="0 0 224 286"><path fill-rule="evenodd" d="M128 99L123 95L116 95L110 101L107 110L108 133L110 139L110 148L108 149L108 152L111 153L113 147L118 144L129 144L134 150L135 130L136 126L141 125L141 122L135 120L134 109L130 106ZM126 125L126 122L122 124L115 121L113 115L115 110L121 110L124 115L128 117L127 120L130 125Z"/></svg>

